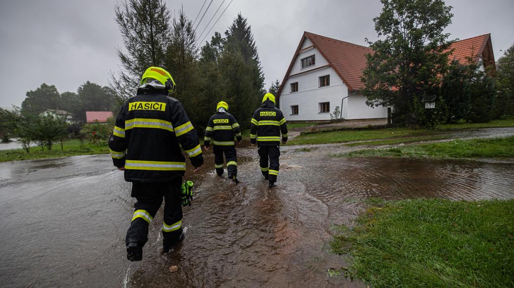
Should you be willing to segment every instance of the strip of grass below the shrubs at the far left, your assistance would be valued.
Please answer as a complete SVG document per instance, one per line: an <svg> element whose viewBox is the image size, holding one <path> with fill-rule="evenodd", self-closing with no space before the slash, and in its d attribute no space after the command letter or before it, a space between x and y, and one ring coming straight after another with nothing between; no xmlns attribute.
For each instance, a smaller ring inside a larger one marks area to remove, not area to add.
<svg viewBox="0 0 514 288"><path fill-rule="evenodd" d="M88 141L85 141L84 143L85 148L80 149L79 140L67 140L63 142L62 151L59 144L53 145L52 150L41 150L40 147L31 147L30 153L25 152L23 149L0 150L0 162L109 153L107 145L94 146Z"/></svg>

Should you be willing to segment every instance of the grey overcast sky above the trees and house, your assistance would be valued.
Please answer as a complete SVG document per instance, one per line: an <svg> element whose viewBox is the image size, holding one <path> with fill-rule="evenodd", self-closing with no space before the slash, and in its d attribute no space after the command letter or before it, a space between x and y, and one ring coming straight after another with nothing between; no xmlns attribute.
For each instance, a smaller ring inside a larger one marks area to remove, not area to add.
<svg viewBox="0 0 514 288"><path fill-rule="evenodd" d="M116 48L122 45L114 21L117 2L0 0L0 107L20 106L25 93L42 83L56 85L59 92L76 91L86 80L107 85L109 71L118 70ZM197 33L222 2L213 0ZM194 20L204 0L166 3L172 13L183 4ZM446 4L453 6L453 23L447 28L453 38L491 33L495 59L514 42L514 0L447 0ZM372 19L380 9L378 0L233 0L206 39L215 31L224 32L241 12L251 25L267 88L272 80L284 77L303 31L366 45L364 37L376 38Z"/></svg>

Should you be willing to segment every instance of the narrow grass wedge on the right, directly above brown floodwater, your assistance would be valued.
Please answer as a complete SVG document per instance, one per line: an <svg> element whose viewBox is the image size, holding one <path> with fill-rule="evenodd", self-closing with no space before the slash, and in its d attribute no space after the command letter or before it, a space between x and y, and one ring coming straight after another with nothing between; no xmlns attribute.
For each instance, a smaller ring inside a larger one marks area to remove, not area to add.
<svg viewBox="0 0 514 288"><path fill-rule="evenodd" d="M390 149L368 149L337 157L514 158L514 137L454 140Z"/></svg>

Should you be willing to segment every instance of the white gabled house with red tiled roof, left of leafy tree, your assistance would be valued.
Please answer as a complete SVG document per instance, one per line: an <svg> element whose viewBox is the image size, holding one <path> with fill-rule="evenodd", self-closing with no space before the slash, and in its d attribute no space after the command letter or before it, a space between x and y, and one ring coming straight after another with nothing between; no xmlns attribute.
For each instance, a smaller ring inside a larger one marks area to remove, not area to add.
<svg viewBox="0 0 514 288"><path fill-rule="evenodd" d="M304 32L277 93L286 120L331 120L336 107L344 119L387 118L386 107L367 106L359 92L365 55L372 52Z"/></svg>

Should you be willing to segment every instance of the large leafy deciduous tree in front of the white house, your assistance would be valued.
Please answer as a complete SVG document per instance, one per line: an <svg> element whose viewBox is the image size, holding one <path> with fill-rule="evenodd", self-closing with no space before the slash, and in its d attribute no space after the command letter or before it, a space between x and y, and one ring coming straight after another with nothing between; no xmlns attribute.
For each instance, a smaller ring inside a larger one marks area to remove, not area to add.
<svg viewBox="0 0 514 288"><path fill-rule="evenodd" d="M436 109L424 109L420 100L437 94L446 72L451 42L443 30L451 23L452 7L443 0L381 2L373 20L382 39L369 41L374 53L363 70L366 104L392 106L396 124L433 126L446 118L446 106L438 101Z"/></svg>

